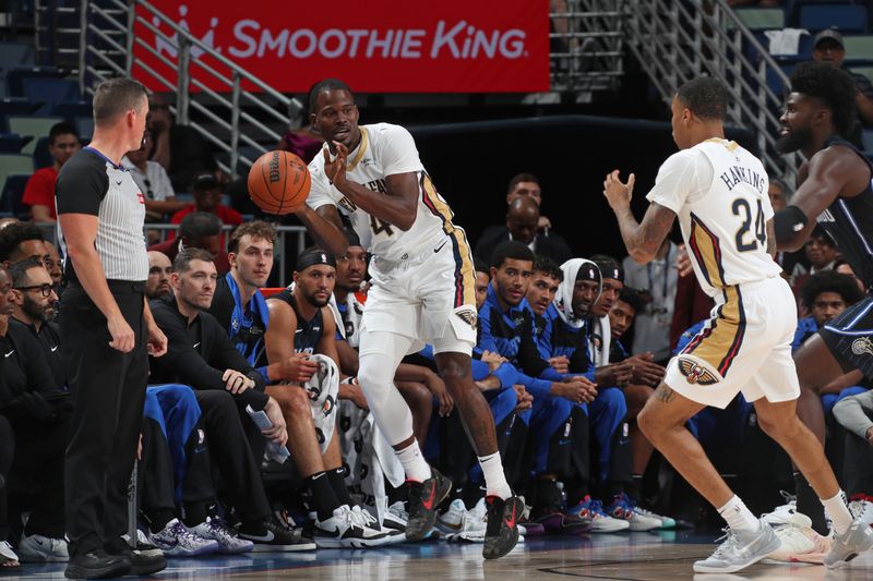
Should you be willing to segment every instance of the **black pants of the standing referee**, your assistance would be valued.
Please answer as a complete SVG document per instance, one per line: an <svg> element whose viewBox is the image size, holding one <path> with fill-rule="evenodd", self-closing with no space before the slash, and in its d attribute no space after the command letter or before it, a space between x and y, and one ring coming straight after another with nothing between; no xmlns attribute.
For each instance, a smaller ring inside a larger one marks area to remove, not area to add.
<svg viewBox="0 0 873 581"><path fill-rule="evenodd" d="M144 283L108 282L133 329L129 353L109 347L106 317L82 287L68 287L61 301L61 359L74 404L64 462L71 557L127 532L127 489L148 380Z"/></svg>

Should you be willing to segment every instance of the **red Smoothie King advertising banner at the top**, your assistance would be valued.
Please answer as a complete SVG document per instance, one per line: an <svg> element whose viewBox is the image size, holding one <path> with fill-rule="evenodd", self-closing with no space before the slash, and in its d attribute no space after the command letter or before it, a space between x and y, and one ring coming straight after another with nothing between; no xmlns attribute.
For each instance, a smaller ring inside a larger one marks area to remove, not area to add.
<svg viewBox="0 0 873 581"><path fill-rule="evenodd" d="M530 93L549 89L549 0L152 0L204 44L278 90L304 93L337 77L361 93ZM175 33L142 7L134 34L177 62ZM142 46L135 56L170 82L171 69ZM192 49L194 57L202 50ZM208 60L216 65L215 60ZM226 72L222 66L219 71ZM226 85L195 78L211 88ZM167 87L143 68L134 75ZM248 87L251 88L251 87ZM195 90L195 87L192 87Z"/></svg>

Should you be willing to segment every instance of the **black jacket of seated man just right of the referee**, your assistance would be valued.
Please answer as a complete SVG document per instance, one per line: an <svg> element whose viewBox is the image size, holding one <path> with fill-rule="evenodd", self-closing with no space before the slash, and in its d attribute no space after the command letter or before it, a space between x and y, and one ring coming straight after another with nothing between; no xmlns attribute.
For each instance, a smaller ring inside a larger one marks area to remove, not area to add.
<svg viewBox="0 0 873 581"><path fill-rule="evenodd" d="M225 389L222 376L225 370L236 370L254 380L254 389L247 389L234 398L241 404L262 410L267 402L264 378L239 354L227 331L208 313L201 312L188 325L188 317L179 312L172 294L148 303L155 323L167 336L167 353L150 358L150 384L183 384L193 389Z"/></svg>

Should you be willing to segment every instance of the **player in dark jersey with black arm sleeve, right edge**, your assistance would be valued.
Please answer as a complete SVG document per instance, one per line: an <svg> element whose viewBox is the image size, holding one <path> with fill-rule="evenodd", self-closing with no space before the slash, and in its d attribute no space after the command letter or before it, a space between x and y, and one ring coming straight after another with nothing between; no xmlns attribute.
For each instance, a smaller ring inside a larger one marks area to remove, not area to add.
<svg viewBox="0 0 873 581"><path fill-rule="evenodd" d="M854 84L842 70L804 62L791 74L791 93L777 143L784 153L800 152L798 191L774 219L778 249L803 246L816 223L836 241L844 258L868 289L873 285L873 165L839 135L854 119ZM870 291L868 290L868 293ZM798 415L824 443L818 391L853 370L873 377L873 298L847 308L823 326L794 354L801 397ZM810 486L798 480L798 511L827 534L821 506ZM812 497L812 498L811 498ZM837 543L840 543L839 536Z"/></svg>

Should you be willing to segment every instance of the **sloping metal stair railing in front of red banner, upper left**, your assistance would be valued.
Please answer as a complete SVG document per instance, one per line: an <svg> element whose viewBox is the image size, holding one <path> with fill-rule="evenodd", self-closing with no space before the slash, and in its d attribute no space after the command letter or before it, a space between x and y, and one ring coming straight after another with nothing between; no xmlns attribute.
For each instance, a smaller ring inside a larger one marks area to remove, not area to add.
<svg viewBox="0 0 873 581"><path fill-rule="evenodd" d="M95 17L104 25L95 24ZM143 29L154 35L155 45L146 41L141 34ZM120 38L118 33L122 33ZM83 93L93 93L92 85L104 78L132 76L139 68L159 84L150 87L152 90L176 94L176 102L170 106L176 122L193 128L226 154L229 162L218 159L218 165L235 178L240 165L251 167L254 159L267 150L261 142L275 144L280 140L282 135L268 123L279 124L284 130L299 124L297 119L302 110L299 100L282 94L224 57L147 0L82 0L81 35L79 74ZM123 65L107 58L91 38L121 52ZM172 47L176 58L158 50L158 43ZM153 63L159 61L171 74L162 74L137 53L148 53ZM256 92L244 90L243 82ZM201 98L192 99L192 90L199 92ZM258 117L247 108L258 111ZM206 122L196 121L192 113ZM240 154L241 148L250 153Z"/></svg>

